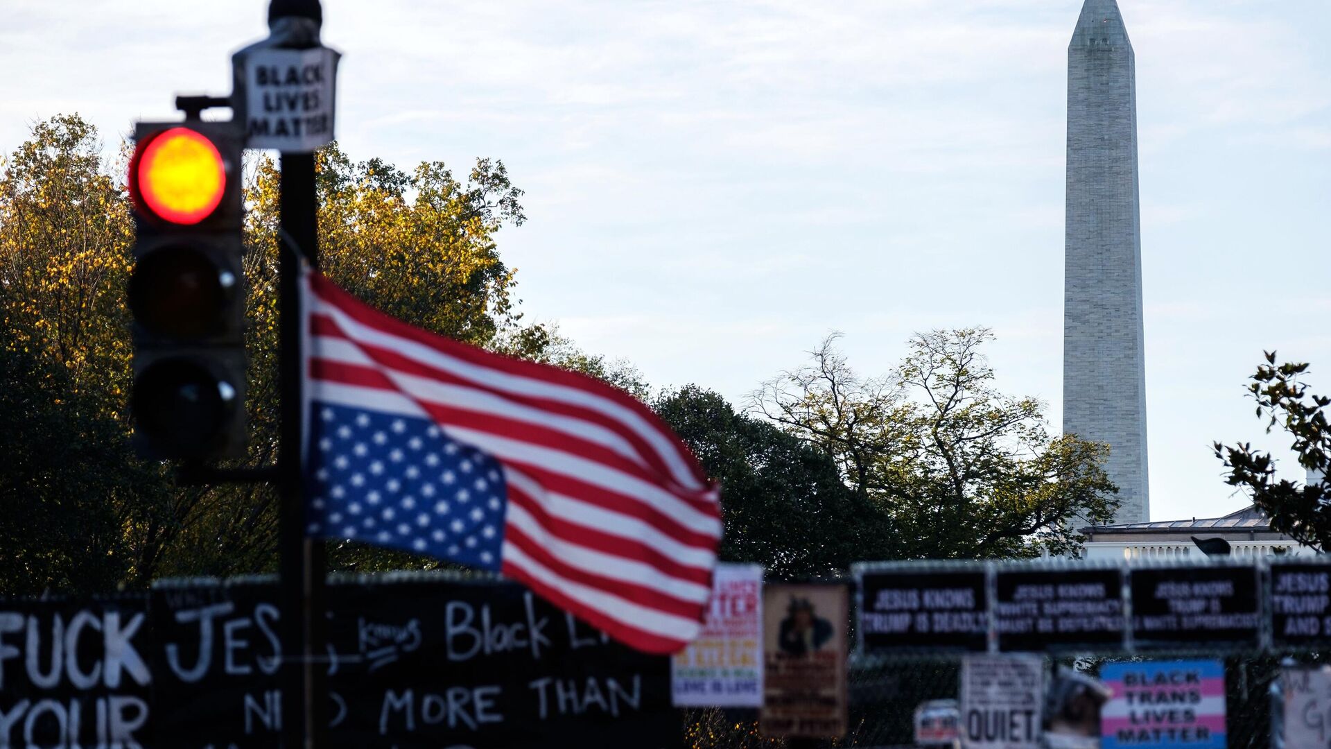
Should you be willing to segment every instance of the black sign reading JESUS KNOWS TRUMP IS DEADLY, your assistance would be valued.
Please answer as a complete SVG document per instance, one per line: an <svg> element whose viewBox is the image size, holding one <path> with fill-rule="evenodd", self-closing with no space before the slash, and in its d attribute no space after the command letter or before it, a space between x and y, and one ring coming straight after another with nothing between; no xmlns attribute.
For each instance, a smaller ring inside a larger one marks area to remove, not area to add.
<svg viewBox="0 0 1331 749"><path fill-rule="evenodd" d="M860 646L893 650L982 652L989 632L985 570L860 574Z"/></svg>

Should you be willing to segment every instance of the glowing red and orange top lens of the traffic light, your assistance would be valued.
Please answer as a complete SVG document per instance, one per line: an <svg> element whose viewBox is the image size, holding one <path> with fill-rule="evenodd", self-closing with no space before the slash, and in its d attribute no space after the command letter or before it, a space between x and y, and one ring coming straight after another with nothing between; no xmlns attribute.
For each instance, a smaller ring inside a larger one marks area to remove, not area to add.
<svg viewBox="0 0 1331 749"><path fill-rule="evenodd" d="M200 132L165 129L134 149L129 192L146 213L172 224L197 224L222 203L226 163Z"/></svg>

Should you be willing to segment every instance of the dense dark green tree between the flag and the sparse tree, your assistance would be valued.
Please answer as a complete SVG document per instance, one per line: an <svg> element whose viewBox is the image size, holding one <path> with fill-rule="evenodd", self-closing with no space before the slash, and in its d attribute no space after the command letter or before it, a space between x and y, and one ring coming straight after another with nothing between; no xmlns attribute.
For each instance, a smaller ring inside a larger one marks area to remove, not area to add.
<svg viewBox="0 0 1331 749"><path fill-rule="evenodd" d="M888 553L881 513L847 489L816 446L697 385L664 393L652 408L721 484L723 560L760 562L783 580L835 574Z"/></svg>

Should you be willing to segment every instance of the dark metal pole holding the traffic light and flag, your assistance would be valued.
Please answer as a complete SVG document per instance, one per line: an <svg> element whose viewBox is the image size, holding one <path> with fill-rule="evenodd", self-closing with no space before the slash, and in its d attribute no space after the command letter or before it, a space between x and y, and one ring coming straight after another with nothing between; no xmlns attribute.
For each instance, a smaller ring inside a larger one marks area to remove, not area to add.
<svg viewBox="0 0 1331 749"><path fill-rule="evenodd" d="M311 23L317 35L322 21L318 0L272 0L269 27ZM317 40L317 36L315 36ZM284 241L295 244L305 260L318 267L318 203L314 196L314 155L282 153L280 223ZM278 492L281 493L281 638L282 746L315 749L323 741L325 670L315 665L323 654L326 629L323 594L326 560L323 544L305 537L305 498L301 466L303 438L301 365L301 263L290 248L280 251L278 295L278 386L281 433L278 442Z"/></svg>

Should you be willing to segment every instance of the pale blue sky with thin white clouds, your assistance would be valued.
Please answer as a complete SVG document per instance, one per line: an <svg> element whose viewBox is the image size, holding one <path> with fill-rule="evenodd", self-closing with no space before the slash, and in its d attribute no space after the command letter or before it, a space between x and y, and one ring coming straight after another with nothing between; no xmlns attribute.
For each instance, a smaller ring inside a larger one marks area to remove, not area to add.
<svg viewBox="0 0 1331 749"><path fill-rule="evenodd" d="M1326 0L1119 0L1137 56L1153 520L1244 506L1215 440L1299 474L1244 396L1331 389ZM1066 49L1081 0L325 0L353 159L500 159L528 320L736 405L829 332L888 372L985 325L1061 422ZM0 152L79 112L108 148L229 92L264 0L9 0Z"/></svg>

